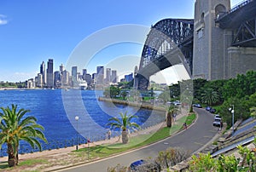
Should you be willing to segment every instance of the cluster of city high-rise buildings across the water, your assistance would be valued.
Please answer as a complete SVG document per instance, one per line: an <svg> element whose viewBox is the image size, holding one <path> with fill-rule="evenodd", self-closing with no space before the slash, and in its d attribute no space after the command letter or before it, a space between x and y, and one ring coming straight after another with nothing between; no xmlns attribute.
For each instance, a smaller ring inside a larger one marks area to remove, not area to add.
<svg viewBox="0 0 256 172"><path fill-rule="evenodd" d="M87 69L79 69L78 66L72 66L70 70L66 69L63 64L56 65L59 69L54 71L54 59L48 59L39 66L38 74L35 77L26 79L26 88L49 88L49 89L67 89L80 88L79 84L83 84L83 89L94 89L108 87L110 84L119 83L118 72L115 69L106 68L104 66L96 66L96 72L89 73ZM125 75L123 81L130 82L133 73L129 79ZM86 85L86 86L85 86Z"/></svg>

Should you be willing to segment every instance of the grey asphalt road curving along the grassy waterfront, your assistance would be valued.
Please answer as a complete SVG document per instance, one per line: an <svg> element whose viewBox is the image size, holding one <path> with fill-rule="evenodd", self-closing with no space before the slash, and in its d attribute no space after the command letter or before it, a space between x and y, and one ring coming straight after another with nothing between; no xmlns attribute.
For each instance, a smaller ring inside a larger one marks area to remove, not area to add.
<svg viewBox="0 0 256 172"><path fill-rule="evenodd" d="M156 157L158 152L165 151L168 147L179 146L191 153L200 150L207 144L212 138L218 134L218 128L212 126L213 115L206 112L204 109L194 109L198 113L196 122L189 127L189 129L179 132L177 135L161 140L150 146L125 152L120 155L105 158L92 163L84 163L83 165L75 166L73 168L64 169L65 172L84 172L84 171L104 171L106 172L108 167L114 167L118 163L123 166L129 166L132 162L138 159L146 159L148 157Z"/></svg>

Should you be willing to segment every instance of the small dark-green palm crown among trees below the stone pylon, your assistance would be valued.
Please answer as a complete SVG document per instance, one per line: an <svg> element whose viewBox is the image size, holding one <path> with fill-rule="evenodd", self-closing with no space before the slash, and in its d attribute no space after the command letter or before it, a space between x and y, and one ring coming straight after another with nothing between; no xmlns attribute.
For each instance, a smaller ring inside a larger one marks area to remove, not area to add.
<svg viewBox="0 0 256 172"><path fill-rule="evenodd" d="M206 89L201 94L201 99L204 103L207 103L209 106L212 106L213 104L217 103L219 101L219 95L217 91L214 91L213 89Z"/></svg>

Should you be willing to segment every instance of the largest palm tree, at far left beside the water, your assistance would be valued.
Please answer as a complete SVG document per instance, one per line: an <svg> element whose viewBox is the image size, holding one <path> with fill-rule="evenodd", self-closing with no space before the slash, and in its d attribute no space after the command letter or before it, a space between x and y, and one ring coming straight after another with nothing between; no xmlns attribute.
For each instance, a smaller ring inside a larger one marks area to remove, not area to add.
<svg viewBox="0 0 256 172"><path fill-rule="evenodd" d="M18 164L18 148L20 140L25 140L33 148L38 146L39 150L42 150L42 146L37 138L47 142L44 137L44 127L37 123L37 118L24 117L29 110L20 109L18 111L17 105L12 105L7 108L0 108L3 112L0 112L0 147L4 143L7 144L8 149L8 163L9 167L13 167Z"/></svg>

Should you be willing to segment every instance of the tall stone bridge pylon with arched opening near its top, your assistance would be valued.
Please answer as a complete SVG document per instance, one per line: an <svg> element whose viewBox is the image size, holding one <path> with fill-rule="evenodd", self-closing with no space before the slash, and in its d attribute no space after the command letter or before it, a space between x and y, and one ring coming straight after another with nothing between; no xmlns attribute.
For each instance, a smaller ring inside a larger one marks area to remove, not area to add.
<svg viewBox="0 0 256 172"><path fill-rule="evenodd" d="M231 32L215 20L230 10L230 0L196 0L194 20L193 77L223 79Z"/></svg>

